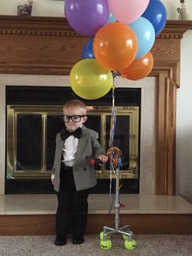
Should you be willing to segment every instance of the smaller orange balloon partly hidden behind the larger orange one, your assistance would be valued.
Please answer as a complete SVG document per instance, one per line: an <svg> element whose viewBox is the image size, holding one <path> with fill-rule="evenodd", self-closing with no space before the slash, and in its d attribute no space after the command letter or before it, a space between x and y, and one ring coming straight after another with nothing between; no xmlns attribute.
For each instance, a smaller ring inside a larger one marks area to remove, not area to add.
<svg viewBox="0 0 192 256"><path fill-rule="evenodd" d="M149 51L142 58L133 60L127 68L120 70L120 74L130 80L139 80L151 73L153 64L153 55Z"/></svg>

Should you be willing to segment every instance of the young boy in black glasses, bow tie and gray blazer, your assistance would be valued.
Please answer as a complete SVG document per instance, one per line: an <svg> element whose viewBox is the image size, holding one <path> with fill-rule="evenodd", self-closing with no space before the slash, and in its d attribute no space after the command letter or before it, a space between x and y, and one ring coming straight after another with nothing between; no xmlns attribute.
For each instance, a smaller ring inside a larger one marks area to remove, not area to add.
<svg viewBox="0 0 192 256"><path fill-rule="evenodd" d="M63 106L63 118L67 129L56 136L55 161L51 180L58 196L55 245L66 245L72 227L72 244L84 242L87 222L88 196L97 180L91 158L103 163L107 156L98 143L98 133L86 128L86 106L72 99Z"/></svg>

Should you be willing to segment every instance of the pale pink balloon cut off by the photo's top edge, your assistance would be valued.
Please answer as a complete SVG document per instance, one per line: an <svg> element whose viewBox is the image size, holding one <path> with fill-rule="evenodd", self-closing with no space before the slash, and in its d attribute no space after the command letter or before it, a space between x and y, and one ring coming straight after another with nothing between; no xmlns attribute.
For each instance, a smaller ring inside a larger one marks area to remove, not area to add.
<svg viewBox="0 0 192 256"><path fill-rule="evenodd" d="M148 6L150 0L107 0L111 13L116 20L130 24L137 20Z"/></svg>

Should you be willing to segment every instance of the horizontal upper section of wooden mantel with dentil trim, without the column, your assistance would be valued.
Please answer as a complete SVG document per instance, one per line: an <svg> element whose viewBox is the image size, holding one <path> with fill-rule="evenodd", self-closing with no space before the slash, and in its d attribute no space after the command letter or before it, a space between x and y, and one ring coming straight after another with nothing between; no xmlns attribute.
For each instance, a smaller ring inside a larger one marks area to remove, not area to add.
<svg viewBox="0 0 192 256"><path fill-rule="evenodd" d="M179 62L180 39L187 29L192 22L168 20L152 49L154 70ZM68 74L81 60L87 40L65 18L0 15L0 73Z"/></svg>

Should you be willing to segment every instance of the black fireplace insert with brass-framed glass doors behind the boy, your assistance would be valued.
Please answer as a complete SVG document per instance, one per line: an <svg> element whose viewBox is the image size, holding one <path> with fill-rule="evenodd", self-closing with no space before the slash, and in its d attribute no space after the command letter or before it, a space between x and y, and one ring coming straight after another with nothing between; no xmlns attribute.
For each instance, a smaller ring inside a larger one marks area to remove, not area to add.
<svg viewBox="0 0 192 256"><path fill-rule="evenodd" d="M111 95L85 100L88 121L99 141L109 148ZM139 192L139 141L141 89L116 88L115 146L123 152L120 170L122 193ZM7 86L7 168L5 193L54 193L50 171L55 154L55 135L61 130L62 106L69 99L81 99L71 87ZM95 166L98 184L93 193L108 193L110 166ZM112 177L112 192L115 179Z"/></svg>

